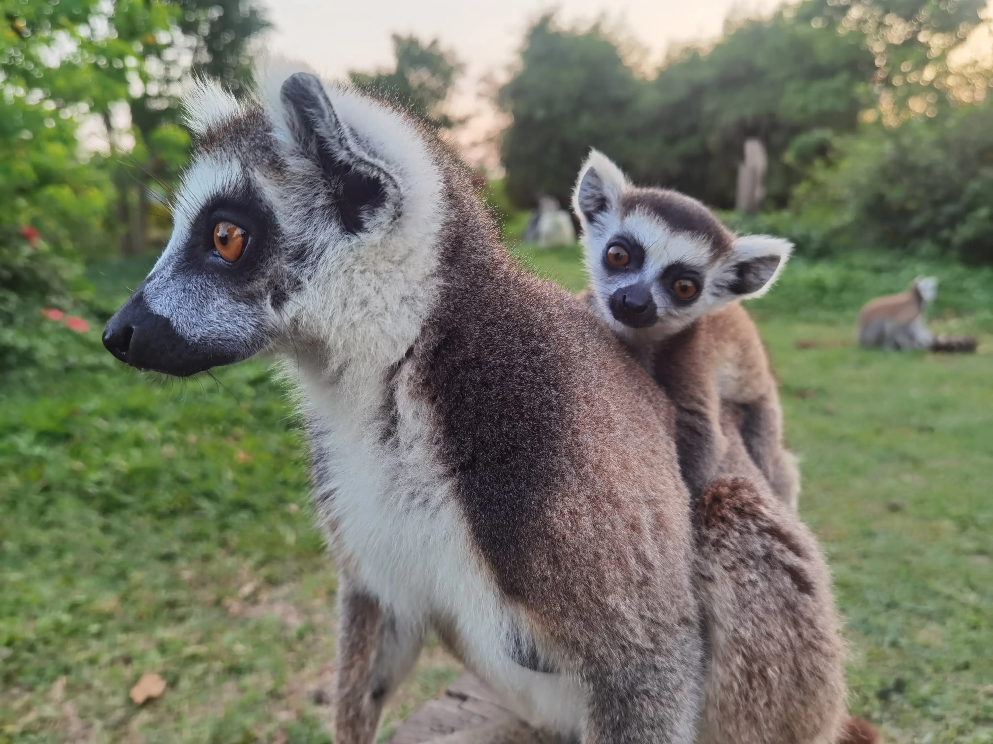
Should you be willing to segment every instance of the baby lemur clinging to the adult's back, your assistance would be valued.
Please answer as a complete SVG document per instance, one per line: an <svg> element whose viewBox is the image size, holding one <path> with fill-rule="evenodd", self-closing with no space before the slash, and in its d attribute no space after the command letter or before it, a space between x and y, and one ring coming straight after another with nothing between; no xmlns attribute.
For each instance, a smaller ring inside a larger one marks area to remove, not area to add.
<svg viewBox="0 0 993 744"><path fill-rule="evenodd" d="M795 508L799 475L782 445L776 380L755 323L736 302L769 290L792 246L765 235L736 238L696 199L632 186L597 151L580 172L573 205L591 278L587 302L675 405L690 493L702 493L727 446L724 401L741 409L745 447Z"/></svg>

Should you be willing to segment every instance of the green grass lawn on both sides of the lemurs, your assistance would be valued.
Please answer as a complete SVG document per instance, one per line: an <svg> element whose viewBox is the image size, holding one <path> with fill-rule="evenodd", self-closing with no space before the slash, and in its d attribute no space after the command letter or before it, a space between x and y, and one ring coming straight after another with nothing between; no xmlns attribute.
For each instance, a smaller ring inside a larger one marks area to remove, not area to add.
<svg viewBox="0 0 993 744"><path fill-rule="evenodd" d="M576 249L519 256L582 286ZM94 270L94 319L146 268ZM886 741L993 742L993 279L939 271L938 325L980 333L979 354L850 342L861 302L921 269L797 260L753 309L852 709ZM125 369L98 330L67 344L69 363L0 378L0 743L329 742L337 582L267 363L183 385ZM168 686L137 706L144 673ZM457 673L430 645L383 737Z"/></svg>

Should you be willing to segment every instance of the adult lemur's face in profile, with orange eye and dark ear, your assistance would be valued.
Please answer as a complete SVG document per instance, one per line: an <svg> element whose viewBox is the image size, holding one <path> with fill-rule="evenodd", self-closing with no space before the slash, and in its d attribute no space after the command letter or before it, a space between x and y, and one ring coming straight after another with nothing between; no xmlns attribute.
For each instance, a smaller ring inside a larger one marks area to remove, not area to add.
<svg viewBox="0 0 993 744"><path fill-rule="evenodd" d="M193 97L200 139L169 245L103 336L121 361L178 376L255 354L302 313L333 314L335 278L400 210L390 169L313 75L286 78L275 111L206 83Z"/></svg>

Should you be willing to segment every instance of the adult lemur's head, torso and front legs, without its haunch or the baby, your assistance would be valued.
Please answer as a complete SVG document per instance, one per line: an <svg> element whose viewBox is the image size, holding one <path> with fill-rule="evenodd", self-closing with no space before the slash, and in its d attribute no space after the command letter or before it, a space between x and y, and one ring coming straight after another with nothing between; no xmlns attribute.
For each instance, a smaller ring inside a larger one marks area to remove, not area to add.
<svg viewBox="0 0 993 744"><path fill-rule="evenodd" d="M704 652L665 395L512 264L433 135L305 72L259 79L257 102L189 98L172 238L104 344L173 375L287 359L341 574L335 741L374 739L429 628L564 735L693 741Z"/></svg>

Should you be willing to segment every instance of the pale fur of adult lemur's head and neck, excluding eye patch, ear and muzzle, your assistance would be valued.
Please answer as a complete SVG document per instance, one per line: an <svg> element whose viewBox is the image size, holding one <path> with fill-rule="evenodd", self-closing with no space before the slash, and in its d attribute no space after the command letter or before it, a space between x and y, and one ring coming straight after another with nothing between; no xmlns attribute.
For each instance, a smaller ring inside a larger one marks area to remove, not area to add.
<svg viewBox="0 0 993 744"><path fill-rule="evenodd" d="M245 117L253 123L195 156L176 199L169 246L144 287L146 301L193 343L252 352L274 345L296 353L299 340L321 339L329 369L386 364L416 337L437 289L428 247L445 209L438 158L404 117L350 89L326 85L347 146L389 184L384 203L363 212L361 230L343 229L315 198L323 176L302 152L294 112L280 97L284 81L298 71L305 70L265 62L257 72L259 92L245 102L212 80L188 89L187 119L202 137ZM259 107L262 115L251 118ZM271 157L258 152L266 147ZM191 269L189 256L190 245L204 240L194 234L205 229L198 215L218 197L248 190L267 212L279 245L268 246L265 281L253 276L258 287L246 295L240 280L225 284L222 271ZM382 293L387 285L395 291ZM273 294L284 291L289 299L275 302Z"/></svg>

